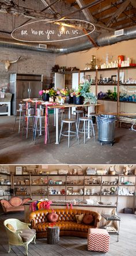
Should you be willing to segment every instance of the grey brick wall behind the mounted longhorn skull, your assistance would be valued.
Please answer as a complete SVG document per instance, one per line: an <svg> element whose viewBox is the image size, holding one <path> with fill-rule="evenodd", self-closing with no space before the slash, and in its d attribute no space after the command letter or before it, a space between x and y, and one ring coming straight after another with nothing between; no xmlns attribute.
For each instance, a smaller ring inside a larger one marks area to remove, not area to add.
<svg viewBox="0 0 136 256"><path fill-rule="evenodd" d="M0 56L0 87L9 83L11 73L43 74L43 88L50 85L50 73L55 64L55 54L0 47ZM20 56L20 60L11 64L9 71L6 72L1 60L16 60Z"/></svg>

